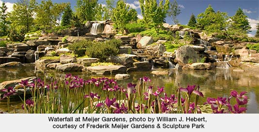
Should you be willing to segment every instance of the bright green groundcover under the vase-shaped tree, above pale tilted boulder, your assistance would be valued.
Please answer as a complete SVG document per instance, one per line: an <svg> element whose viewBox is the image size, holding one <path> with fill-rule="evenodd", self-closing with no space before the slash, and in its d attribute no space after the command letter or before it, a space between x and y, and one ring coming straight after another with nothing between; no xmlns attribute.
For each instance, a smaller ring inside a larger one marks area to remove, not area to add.
<svg viewBox="0 0 259 132"><path fill-rule="evenodd" d="M157 32L157 30L155 28L151 28L149 30L140 32L141 36L150 36L154 39L154 41L157 41L159 39L162 40L171 40L172 39L172 35L168 35L168 32L165 30L159 30Z"/></svg>

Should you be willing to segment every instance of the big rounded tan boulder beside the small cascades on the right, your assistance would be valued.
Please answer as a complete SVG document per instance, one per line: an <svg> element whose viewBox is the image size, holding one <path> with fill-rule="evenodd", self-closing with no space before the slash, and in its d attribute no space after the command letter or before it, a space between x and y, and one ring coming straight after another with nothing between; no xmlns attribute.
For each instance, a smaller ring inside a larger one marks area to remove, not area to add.
<svg viewBox="0 0 259 132"><path fill-rule="evenodd" d="M188 61L196 63L197 60L198 54L191 46L185 45L176 50L176 61L178 63L188 64Z"/></svg>

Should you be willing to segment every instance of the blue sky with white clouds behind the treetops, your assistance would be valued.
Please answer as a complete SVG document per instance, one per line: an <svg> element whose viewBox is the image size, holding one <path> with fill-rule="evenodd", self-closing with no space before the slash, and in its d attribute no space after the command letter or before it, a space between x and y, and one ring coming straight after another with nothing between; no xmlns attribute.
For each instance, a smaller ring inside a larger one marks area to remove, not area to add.
<svg viewBox="0 0 259 132"><path fill-rule="evenodd" d="M17 0L1 0L7 3L9 7L12 6L12 3L15 3ZM41 0L37 0L41 1ZM53 2L70 2L72 7L76 5L76 0L52 0ZM105 0L98 0L99 3L105 5ZM116 1L116 0L115 0ZM140 16L140 7L138 0L126 0L129 5L138 11ZM173 0L170 0L173 1ZM209 4L213 7L215 11L220 10L221 12L227 12L228 16L235 15L236 10L240 7L243 9L243 12L248 16L250 25L252 26L251 34L256 32L256 24L259 23L259 0L177 0L178 4L181 7L181 14L178 16L178 20L181 24L187 24L192 13L195 16L204 12ZM9 9L11 10L11 8ZM140 16L141 17L141 16ZM166 18L166 22L172 24L170 18ZM249 35L251 35L249 34Z"/></svg>

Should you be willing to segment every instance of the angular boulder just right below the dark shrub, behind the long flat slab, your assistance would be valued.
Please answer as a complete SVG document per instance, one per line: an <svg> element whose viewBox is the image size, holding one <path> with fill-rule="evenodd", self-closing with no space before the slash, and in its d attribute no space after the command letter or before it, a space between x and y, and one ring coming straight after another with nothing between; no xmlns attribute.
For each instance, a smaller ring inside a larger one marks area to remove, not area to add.
<svg viewBox="0 0 259 132"><path fill-rule="evenodd" d="M133 57L136 57L136 55L133 54L118 54L117 56L111 56L106 61L112 62L115 64L120 64L126 67L133 66Z"/></svg>

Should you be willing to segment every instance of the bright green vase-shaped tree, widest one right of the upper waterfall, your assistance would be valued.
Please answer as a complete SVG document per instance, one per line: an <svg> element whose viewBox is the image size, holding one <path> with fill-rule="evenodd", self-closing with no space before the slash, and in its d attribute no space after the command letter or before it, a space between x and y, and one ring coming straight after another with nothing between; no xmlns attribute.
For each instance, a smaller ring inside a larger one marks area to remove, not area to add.
<svg viewBox="0 0 259 132"><path fill-rule="evenodd" d="M159 5L157 0L139 0L139 2L144 22L149 27L155 27L158 32L168 12L170 1L159 0Z"/></svg>

